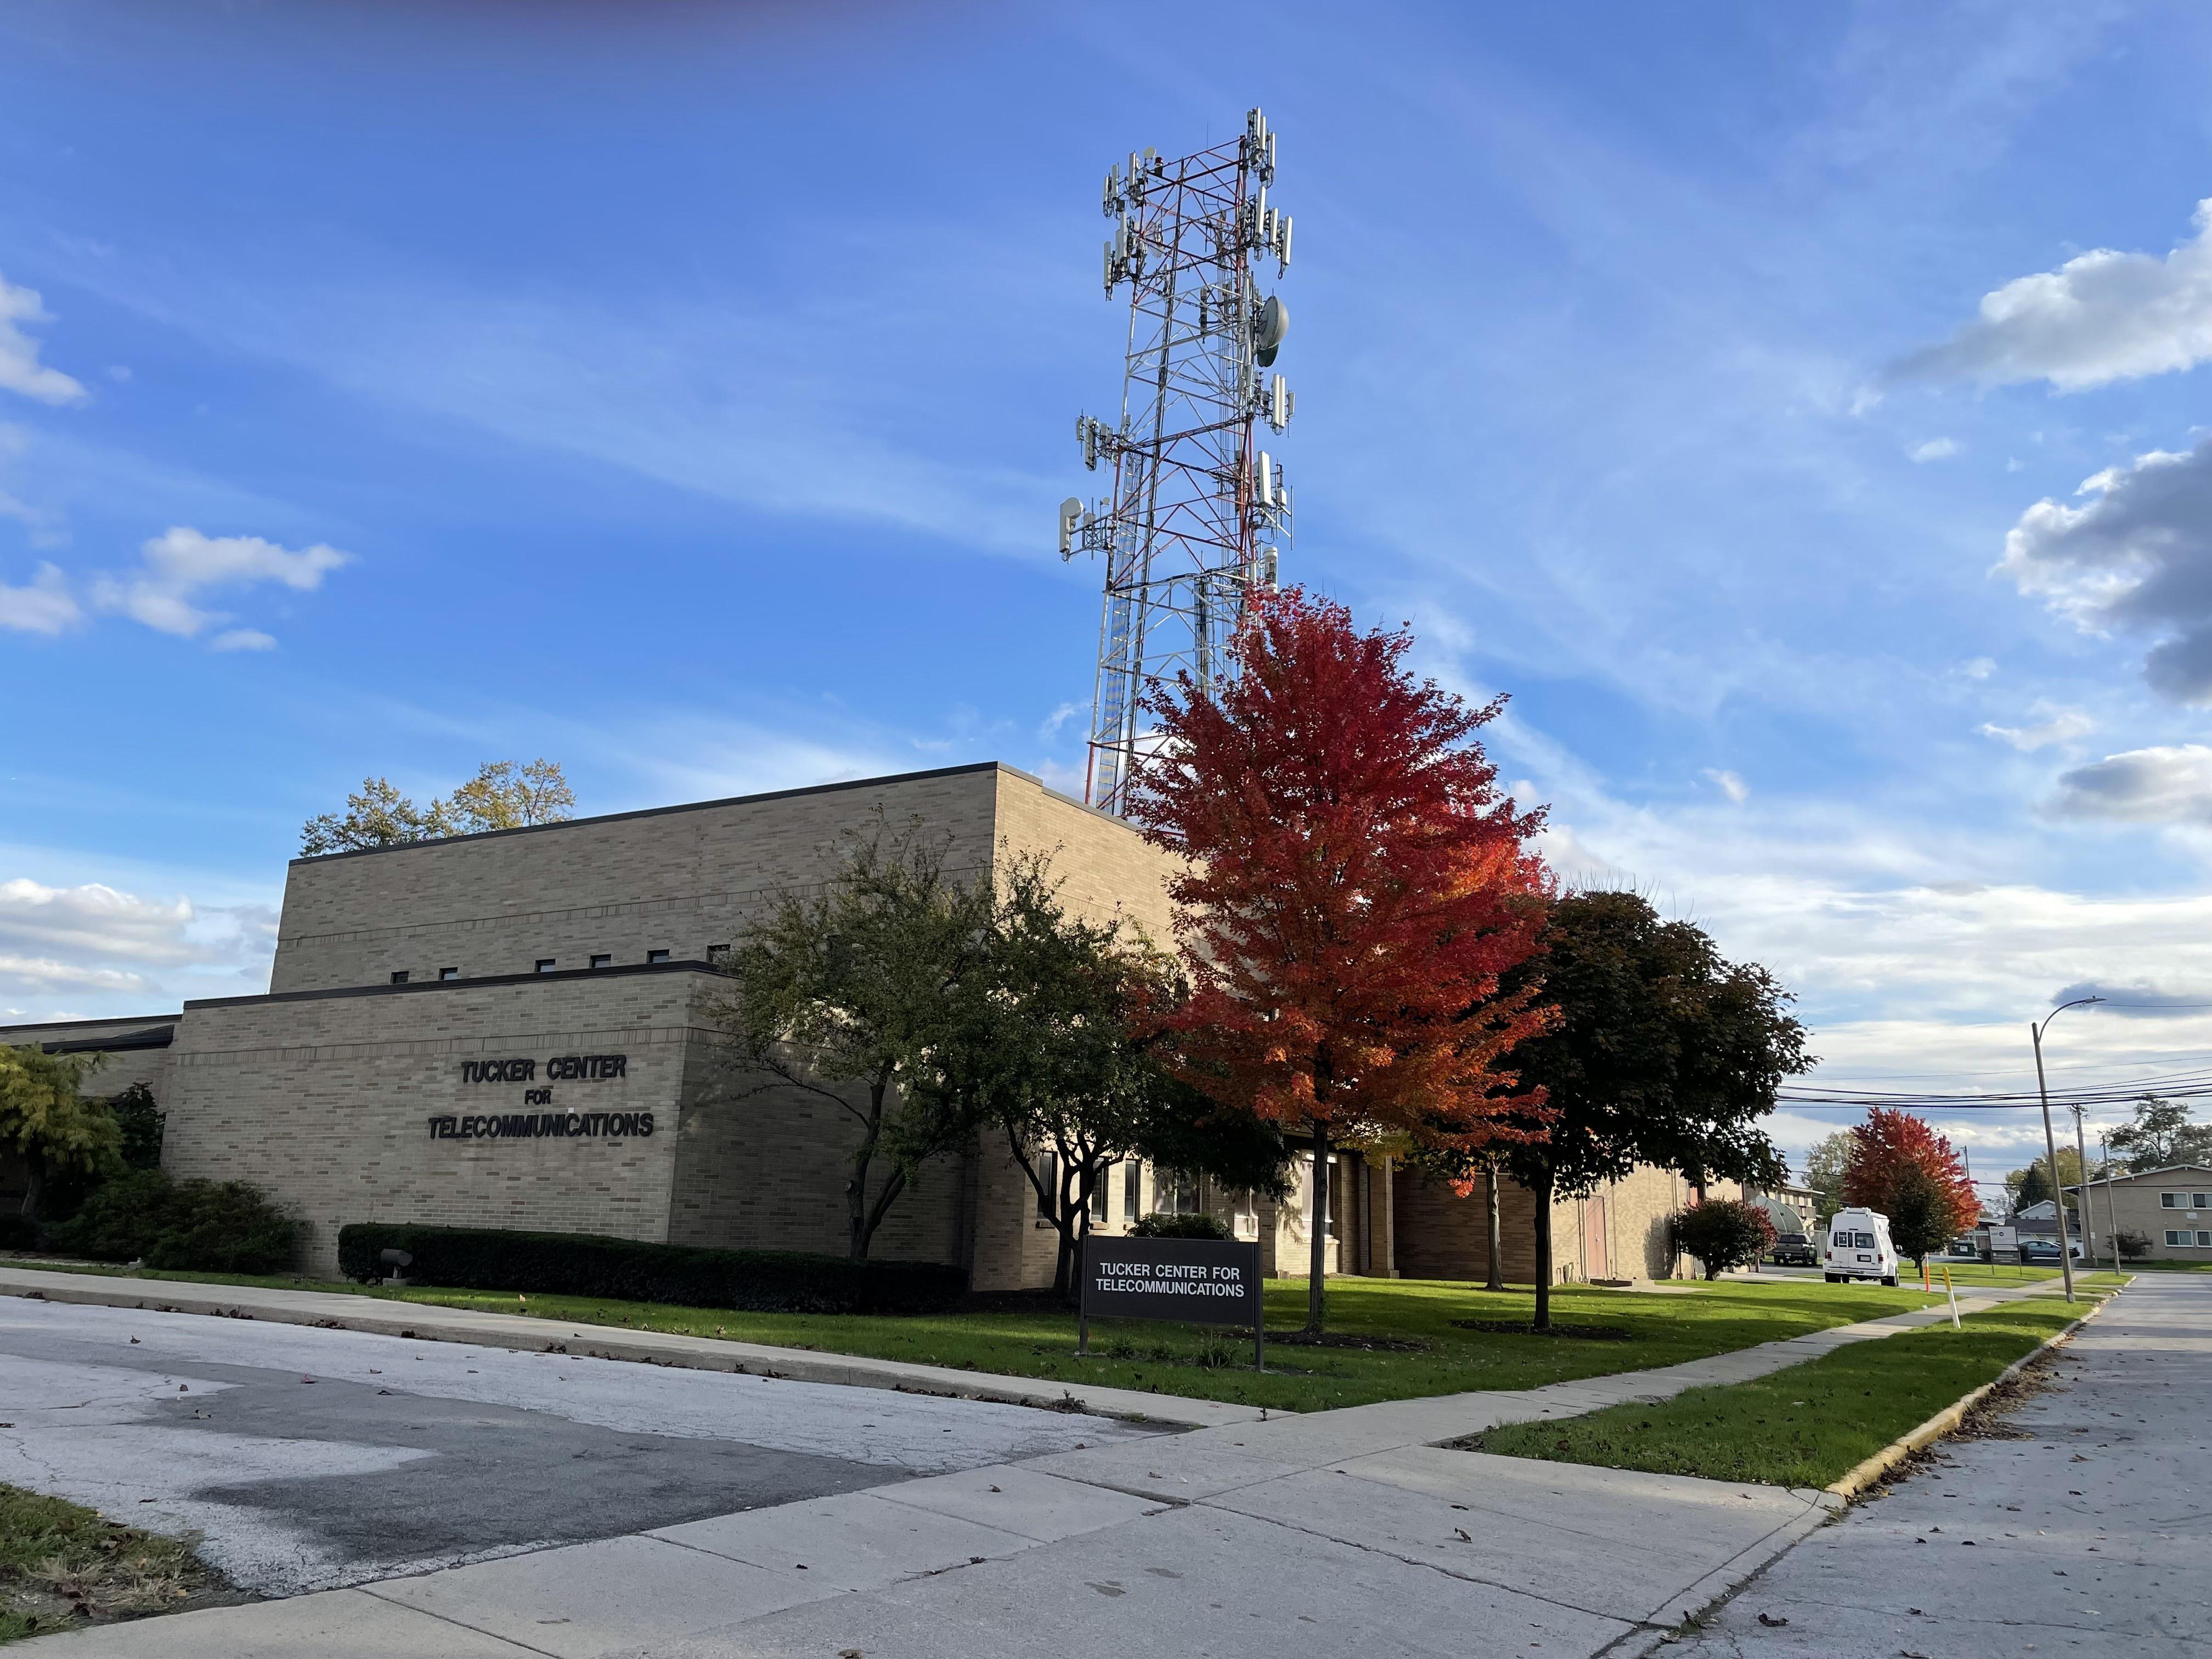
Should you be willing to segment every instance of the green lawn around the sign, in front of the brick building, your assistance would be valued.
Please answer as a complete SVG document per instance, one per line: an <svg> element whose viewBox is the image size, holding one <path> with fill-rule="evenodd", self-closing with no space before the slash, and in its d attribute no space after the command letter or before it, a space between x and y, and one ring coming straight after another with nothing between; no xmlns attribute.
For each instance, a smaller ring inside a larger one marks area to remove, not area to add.
<svg viewBox="0 0 2212 1659"><path fill-rule="evenodd" d="M91 1272L119 1274L124 1270L95 1267ZM1610 1371L1639 1371L1931 1305L1918 1285L1882 1290L1867 1283L1829 1285L1818 1279L1778 1276L1674 1285L1663 1294L1562 1285L1553 1292L1557 1323L1626 1332L1624 1338L1593 1340L1460 1329L1451 1323L1469 1318L1526 1325L1535 1301L1528 1290L1491 1294L1462 1283L1420 1279L1332 1279L1332 1332L1405 1343L1409 1349L1292 1347L1270 1340L1267 1374L1259 1376L1252 1371L1250 1334L1208 1325L1097 1321L1091 1327L1093 1358L1077 1358L1075 1316L1064 1312L960 1312L902 1318L745 1314L593 1296L533 1294L524 1298L509 1292L438 1290L434 1285L385 1290L288 1276L148 1274L144 1270L135 1276L332 1290L588 1325L626 1325L641 1332L728 1336L776 1347L1048 1378L1064 1383L1071 1391L1082 1391L1086 1383L1093 1383L1265 1405L1281 1411L1325 1411L1467 1389L1526 1389ZM1270 1334L1290 1334L1303 1323L1305 1281L1270 1281Z"/></svg>

